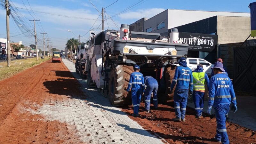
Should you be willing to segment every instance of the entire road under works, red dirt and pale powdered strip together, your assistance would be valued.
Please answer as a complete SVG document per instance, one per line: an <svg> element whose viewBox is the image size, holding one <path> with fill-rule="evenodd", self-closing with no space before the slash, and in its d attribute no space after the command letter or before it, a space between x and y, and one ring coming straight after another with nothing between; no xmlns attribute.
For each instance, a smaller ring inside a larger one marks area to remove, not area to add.
<svg viewBox="0 0 256 144"><path fill-rule="evenodd" d="M0 81L0 143L209 143L216 119L176 123L172 106L134 118L132 106L116 108L75 74L75 64L51 60ZM227 123L231 143L256 143L255 132Z"/></svg>

